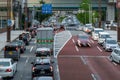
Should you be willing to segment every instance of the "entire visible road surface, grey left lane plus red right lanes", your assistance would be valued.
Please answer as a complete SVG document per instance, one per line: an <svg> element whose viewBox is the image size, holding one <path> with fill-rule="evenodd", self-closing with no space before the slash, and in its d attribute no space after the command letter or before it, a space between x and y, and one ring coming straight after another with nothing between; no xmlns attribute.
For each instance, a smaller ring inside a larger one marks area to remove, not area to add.
<svg viewBox="0 0 120 80"><path fill-rule="evenodd" d="M54 63L54 79L58 80L119 80L120 66L110 62L110 52L105 52L103 48L93 41L92 47L80 47L75 45L76 35L84 34L82 31L72 31L72 38L63 47L58 55L58 61ZM17 73L10 80L31 80L31 62L35 58L35 38L27 46L25 53L21 54L18 61ZM1 51L3 57L3 51ZM58 64L58 65L57 65ZM57 69L57 66L59 70ZM59 71L59 73L58 73ZM8 80L8 79L7 79Z"/></svg>

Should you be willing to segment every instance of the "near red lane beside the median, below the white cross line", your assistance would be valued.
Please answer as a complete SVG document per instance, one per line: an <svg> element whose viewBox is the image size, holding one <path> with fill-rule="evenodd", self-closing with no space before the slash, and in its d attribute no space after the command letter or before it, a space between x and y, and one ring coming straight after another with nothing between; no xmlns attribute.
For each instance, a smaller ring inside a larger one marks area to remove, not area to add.
<svg viewBox="0 0 120 80"><path fill-rule="evenodd" d="M58 57L61 80L93 80L91 71L80 57Z"/></svg>

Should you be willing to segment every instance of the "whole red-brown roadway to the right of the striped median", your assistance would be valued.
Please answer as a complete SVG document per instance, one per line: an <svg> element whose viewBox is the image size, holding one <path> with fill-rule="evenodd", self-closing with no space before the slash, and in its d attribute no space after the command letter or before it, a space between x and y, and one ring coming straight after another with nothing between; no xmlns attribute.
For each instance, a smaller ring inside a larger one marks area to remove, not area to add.
<svg viewBox="0 0 120 80"><path fill-rule="evenodd" d="M120 80L120 66L109 60L111 52L105 52L97 41L90 40L92 47L75 45L76 34L64 46L58 56L61 80Z"/></svg>

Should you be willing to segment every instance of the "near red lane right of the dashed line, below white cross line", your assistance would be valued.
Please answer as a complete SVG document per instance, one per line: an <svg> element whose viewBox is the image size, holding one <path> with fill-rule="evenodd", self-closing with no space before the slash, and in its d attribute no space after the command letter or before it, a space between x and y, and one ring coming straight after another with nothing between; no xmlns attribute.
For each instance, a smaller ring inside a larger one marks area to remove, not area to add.
<svg viewBox="0 0 120 80"><path fill-rule="evenodd" d="M108 57L86 57L87 65L96 80L120 80L120 67L110 62Z"/></svg>

